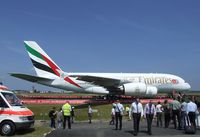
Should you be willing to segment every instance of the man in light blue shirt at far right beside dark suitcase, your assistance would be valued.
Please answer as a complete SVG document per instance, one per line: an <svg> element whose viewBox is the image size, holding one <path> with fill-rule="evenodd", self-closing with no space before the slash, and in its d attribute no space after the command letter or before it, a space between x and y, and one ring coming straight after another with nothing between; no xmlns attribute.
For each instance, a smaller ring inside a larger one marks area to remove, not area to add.
<svg viewBox="0 0 200 137"><path fill-rule="evenodd" d="M197 105L192 102L192 100L189 98L189 103L187 103L187 109L186 112L189 116L191 124L194 126L195 131L196 131L196 112L197 112Z"/></svg>

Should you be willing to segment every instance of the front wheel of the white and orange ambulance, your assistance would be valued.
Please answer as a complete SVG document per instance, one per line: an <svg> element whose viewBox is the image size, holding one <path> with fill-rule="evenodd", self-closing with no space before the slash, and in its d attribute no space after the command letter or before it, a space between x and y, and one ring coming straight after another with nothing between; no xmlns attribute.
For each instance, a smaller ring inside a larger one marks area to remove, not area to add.
<svg viewBox="0 0 200 137"><path fill-rule="evenodd" d="M1 135L10 136L15 133L15 125L11 121L5 121L0 125L0 133Z"/></svg>

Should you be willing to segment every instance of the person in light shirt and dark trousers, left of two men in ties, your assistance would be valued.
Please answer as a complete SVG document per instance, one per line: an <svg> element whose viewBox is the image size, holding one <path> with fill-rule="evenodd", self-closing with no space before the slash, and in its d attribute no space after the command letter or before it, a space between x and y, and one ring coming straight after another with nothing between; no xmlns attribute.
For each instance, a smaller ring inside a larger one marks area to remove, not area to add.
<svg viewBox="0 0 200 137"><path fill-rule="evenodd" d="M122 116L123 116L124 106L117 100L115 105L115 130L118 130L118 122L119 122L119 130L122 129Z"/></svg>

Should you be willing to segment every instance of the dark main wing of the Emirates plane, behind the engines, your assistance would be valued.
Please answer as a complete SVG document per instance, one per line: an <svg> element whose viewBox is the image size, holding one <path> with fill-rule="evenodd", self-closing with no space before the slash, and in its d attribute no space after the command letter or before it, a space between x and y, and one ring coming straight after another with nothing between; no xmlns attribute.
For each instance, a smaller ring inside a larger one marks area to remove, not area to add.
<svg viewBox="0 0 200 137"><path fill-rule="evenodd" d="M106 78L106 77L98 77L98 76L90 76L90 75L70 75L70 77L76 77L77 80L90 82L95 85L99 85L103 87L116 87L119 84L121 84L121 81L119 79Z"/></svg>

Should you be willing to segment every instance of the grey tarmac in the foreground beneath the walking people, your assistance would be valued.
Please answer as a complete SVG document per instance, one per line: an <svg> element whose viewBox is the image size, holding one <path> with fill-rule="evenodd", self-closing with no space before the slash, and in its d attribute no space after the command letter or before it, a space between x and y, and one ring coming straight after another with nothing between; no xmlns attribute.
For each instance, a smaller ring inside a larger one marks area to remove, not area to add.
<svg viewBox="0 0 200 137"><path fill-rule="evenodd" d="M93 121L91 124L88 122L75 122L72 124L71 129L56 129L46 134L45 137L133 137L133 123L132 121L124 120L122 130L115 130L115 125L109 125L108 121ZM149 136L147 134L146 121L141 121L139 137ZM177 130L170 124L169 128L156 127L156 122L152 124L152 135L154 137L199 137L200 130L196 134L185 134L184 130Z"/></svg>

